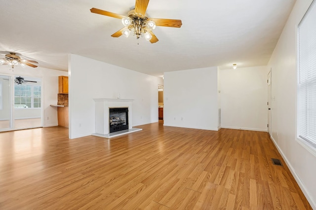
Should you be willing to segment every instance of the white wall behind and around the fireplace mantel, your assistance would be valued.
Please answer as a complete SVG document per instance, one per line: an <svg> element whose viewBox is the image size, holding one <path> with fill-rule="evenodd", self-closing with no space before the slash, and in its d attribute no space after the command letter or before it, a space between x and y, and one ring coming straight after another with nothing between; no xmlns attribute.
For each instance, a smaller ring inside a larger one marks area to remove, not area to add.
<svg viewBox="0 0 316 210"><path fill-rule="evenodd" d="M107 63L69 55L69 137L95 133L93 99L133 99L133 126L158 122L162 79Z"/></svg>

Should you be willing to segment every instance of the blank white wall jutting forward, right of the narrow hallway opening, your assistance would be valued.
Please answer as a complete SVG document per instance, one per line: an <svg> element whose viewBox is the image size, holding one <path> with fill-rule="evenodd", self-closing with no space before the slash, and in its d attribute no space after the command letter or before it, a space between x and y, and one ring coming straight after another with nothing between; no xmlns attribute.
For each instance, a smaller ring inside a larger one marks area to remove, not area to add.
<svg viewBox="0 0 316 210"><path fill-rule="evenodd" d="M218 130L217 67L164 72L165 126Z"/></svg>

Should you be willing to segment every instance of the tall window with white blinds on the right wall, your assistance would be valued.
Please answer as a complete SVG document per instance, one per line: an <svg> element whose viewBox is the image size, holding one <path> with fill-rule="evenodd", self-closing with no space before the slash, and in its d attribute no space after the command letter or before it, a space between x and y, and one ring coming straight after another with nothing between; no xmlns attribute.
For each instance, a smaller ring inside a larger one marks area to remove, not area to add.
<svg viewBox="0 0 316 210"><path fill-rule="evenodd" d="M316 154L316 1L298 26L297 139Z"/></svg>

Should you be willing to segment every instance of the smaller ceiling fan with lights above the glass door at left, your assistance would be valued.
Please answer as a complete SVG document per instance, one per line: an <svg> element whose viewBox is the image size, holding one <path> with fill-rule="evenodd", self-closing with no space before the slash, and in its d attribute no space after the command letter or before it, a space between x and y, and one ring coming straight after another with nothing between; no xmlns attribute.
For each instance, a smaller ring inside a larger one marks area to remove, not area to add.
<svg viewBox="0 0 316 210"><path fill-rule="evenodd" d="M3 56L3 55L1 55ZM31 63L35 63L38 64L37 61L31 61L31 60L27 60L27 59L22 59L20 56L16 55L16 53L14 52L9 52L9 54L6 54L3 56L4 58L0 59L0 64L8 64L9 67L11 67L12 69L17 66L18 64L21 65L21 67L25 68L26 66L29 67L33 67L36 68L38 66L31 64Z"/></svg>

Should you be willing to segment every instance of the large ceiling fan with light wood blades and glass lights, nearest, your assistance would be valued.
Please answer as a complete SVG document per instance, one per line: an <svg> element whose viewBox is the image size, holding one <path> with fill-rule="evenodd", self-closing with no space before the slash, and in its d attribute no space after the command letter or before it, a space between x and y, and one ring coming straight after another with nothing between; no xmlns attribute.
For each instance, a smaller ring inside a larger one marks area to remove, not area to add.
<svg viewBox="0 0 316 210"><path fill-rule="evenodd" d="M180 28L182 25L181 20L173 19L160 19L160 18L149 18L146 16L146 9L148 6L149 0L136 0L135 9L130 10L127 13L127 16L116 14L113 12L108 12L102 9L91 8L92 13L105 15L109 17L119 18L122 20L122 24L125 26L118 32L111 35L112 37L119 37L124 35L128 37L133 31L133 34L136 35L138 39L140 36L144 36L146 40L151 43L158 41L157 36L152 32L156 26L165 26L165 27L175 27Z"/></svg>

